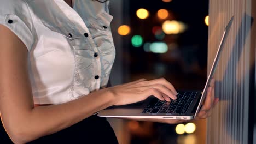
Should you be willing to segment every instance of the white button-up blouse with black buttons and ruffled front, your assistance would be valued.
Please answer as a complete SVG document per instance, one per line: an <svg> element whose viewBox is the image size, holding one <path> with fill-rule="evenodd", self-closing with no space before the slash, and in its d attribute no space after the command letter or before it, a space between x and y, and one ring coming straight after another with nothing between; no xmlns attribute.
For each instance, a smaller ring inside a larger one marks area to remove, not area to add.
<svg viewBox="0 0 256 144"><path fill-rule="evenodd" d="M107 85L115 58L108 2L0 0L0 24L26 45L35 104L60 104Z"/></svg>

